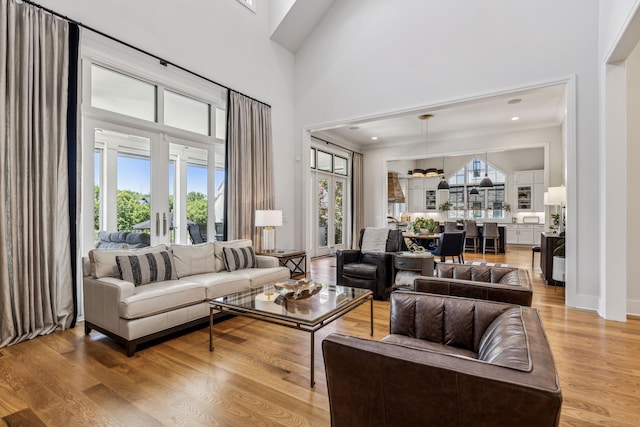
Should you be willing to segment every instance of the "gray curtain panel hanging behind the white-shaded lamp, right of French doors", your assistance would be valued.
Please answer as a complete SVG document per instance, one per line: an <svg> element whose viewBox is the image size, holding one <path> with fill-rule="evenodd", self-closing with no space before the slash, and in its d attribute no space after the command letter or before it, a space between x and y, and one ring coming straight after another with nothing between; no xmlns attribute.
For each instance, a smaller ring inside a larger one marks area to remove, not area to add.
<svg viewBox="0 0 640 427"><path fill-rule="evenodd" d="M230 91L228 134L228 239L261 248L255 212L274 208L271 108Z"/></svg>

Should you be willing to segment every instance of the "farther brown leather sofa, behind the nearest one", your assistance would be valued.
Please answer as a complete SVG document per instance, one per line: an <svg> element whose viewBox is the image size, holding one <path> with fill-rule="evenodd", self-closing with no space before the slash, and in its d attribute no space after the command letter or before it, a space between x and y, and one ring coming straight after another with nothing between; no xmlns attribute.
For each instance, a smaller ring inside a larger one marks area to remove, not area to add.
<svg viewBox="0 0 640 427"><path fill-rule="evenodd" d="M527 270L438 263L434 277L419 276L416 292L452 295L531 306L533 287Z"/></svg>

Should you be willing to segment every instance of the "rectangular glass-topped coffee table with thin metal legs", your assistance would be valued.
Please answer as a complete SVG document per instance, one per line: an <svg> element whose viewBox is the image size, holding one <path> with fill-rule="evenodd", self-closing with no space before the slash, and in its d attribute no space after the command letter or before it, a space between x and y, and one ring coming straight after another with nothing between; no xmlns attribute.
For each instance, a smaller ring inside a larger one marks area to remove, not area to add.
<svg viewBox="0 0 640 427"><path fill-rule="evenodd" d="M373 293L368 289L322 285L317 294L294 300L281 297L274 285L266 285L215 298L211 300L209 308L209 351L213 351L213 315L216 310L309 332L310 386L313 387L315 332L366 301L371 304L373 336Z"/></svg>

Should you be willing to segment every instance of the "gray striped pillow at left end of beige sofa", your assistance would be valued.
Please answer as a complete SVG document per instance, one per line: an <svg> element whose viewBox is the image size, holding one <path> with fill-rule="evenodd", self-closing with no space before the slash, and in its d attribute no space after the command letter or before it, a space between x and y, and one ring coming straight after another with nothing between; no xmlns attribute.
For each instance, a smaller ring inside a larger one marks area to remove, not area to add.
<svg viewBox="0 0 640 427"><path fill-rule="evenodd" d="M135 286L163 280L176 280L173 254L169 251L116 257L120 278Z"/></svg>

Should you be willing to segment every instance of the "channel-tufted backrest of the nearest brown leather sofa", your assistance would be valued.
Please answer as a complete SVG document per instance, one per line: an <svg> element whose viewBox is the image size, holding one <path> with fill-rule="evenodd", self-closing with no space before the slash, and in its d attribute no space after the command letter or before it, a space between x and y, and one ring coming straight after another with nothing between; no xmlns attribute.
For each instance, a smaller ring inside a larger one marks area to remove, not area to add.
<svg viewBox="0 0 640 427"><path fill-rule="evenodd" d="M390 333L478 353L489 325L511 307L490 301L393 292Z"/></svg>

